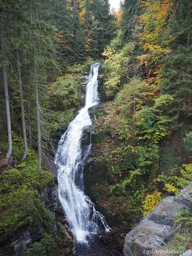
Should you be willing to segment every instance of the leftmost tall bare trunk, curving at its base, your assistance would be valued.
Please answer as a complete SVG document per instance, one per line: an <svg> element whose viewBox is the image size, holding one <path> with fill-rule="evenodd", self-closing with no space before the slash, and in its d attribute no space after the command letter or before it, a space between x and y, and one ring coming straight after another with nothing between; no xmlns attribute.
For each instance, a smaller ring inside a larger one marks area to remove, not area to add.
<svg viewBox="0 0 192 256"><path fill-rule="evenodd" d="M2 52L2 55L4 55L5 51L4 51L4 39L3 39L1 12L0 12L0 41L1 41L1 52ZM9 92L8 92L8 84L7 84L7 70L6 70L5 66L2 67L2 73L3 73L3 84L4 84L4 92L5 92L6 117L7 117L8 151L7 151L7 154L6 154L6 161L8 162L9 157L12 154L12 128L11 128L11 117L10 117L10 109L9 109Z"/></svg>

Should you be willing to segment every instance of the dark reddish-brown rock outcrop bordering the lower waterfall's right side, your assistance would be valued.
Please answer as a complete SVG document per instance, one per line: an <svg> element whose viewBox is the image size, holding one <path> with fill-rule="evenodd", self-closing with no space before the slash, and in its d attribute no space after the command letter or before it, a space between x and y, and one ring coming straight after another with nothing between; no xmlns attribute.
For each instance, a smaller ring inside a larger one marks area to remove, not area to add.
<svg viewBox="0 0 192 256"><path fill-rule="evenodd" d="M86 194L96 202L96 208L105 216L108 225L119 238L124 232L122 228L125 227L123 222L126 213L120 207L116 207L116 202L110 199L111 193L108 186L118 182L119 176L114 175L108 168L106 157L108 157L110 148L107 143L100 144L100 140L102 138L93 134L93 152L89 155L84 168L84 187ZM127 227L125 228L127 233ZM123 238L122 235L122 241Z"/></svg>

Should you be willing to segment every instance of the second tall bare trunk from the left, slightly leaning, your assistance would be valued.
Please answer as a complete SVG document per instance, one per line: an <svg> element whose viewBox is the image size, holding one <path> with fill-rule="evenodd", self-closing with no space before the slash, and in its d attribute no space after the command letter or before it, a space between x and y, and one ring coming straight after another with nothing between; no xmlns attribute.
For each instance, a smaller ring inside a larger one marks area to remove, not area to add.
<svg viewBox="0 0 192 256"><path fill-rule="evenodd" d="M20 94L20 111L21 111L21 120L22 120L22 128L23 128L23 142L24 142L24 152L22 161L25 160L27 155L27 137L26 137L26 124L25 124L25 111L24 111L24 104L23 104L23 89L22 89L22 82L21 82L21 73L20 73L20 58L19 52L17 50L17 70L18 70L18 78L19 78L19 94Z"/></svg>

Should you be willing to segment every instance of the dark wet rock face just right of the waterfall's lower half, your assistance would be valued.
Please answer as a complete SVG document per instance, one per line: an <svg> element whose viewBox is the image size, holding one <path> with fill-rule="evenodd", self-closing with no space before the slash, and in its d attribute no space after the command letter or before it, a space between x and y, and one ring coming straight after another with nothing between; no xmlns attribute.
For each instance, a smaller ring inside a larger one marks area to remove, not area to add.
<svg viewBox="0 0 192 256"><path fill-rule="evenodd" d="M112 173L108 169L107 163L104 159L106 149L98 151L96 146L93 147L93 154L87 159L84 168L84 189L85 193L96 204L96 209L101 212L110 227L116 229L122 224L123 216L121 211L114 207L114 204L109 200L111 194L108 190L108 184L113 184ZM97 154L98 153L98 154ZM126 229L127 231L127 229ZM116 236L119 237L122 233L116 231Z"/></svg>

